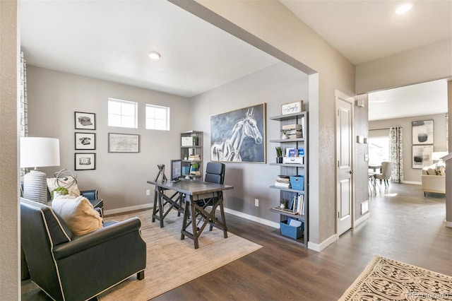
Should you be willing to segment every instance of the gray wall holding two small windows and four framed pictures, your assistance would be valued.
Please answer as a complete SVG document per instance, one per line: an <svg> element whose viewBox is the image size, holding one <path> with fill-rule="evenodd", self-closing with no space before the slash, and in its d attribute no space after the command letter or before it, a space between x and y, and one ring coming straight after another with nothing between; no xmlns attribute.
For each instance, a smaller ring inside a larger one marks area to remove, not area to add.
<svg viewBox="0 0 452 301"><path fill-rule="evenodd" d="M117 98L138 102L138 129L107 126L107 100ZM77 172L80 189L99 189L105 210L114 213L144 208L153 201L157 164L169 167L180 157L180 132L191 130L190 101L175 95L100 81L69 73L28 66L29 136L60 139L61 166L42 168L47 176L62 168L74 169L74 112L96 114L96 169ZM170 107L170 131L144 129L145 104ZM139 153L108 153L108 133L140 135ZM169 168L165 174L169 177ZM151 195L146 196L146 189Z"/></svg>

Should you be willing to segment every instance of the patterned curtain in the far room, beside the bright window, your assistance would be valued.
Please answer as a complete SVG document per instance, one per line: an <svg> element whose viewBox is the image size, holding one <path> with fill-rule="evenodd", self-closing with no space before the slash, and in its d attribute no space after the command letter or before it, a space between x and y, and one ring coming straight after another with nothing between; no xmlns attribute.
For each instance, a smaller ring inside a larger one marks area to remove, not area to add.
<svg viewBox="0 0 452 301"><path fill-rule="evenodd" d="M389 129L389 160L393 163L391 182L403 181L403 131L401 126Z"/></svg>

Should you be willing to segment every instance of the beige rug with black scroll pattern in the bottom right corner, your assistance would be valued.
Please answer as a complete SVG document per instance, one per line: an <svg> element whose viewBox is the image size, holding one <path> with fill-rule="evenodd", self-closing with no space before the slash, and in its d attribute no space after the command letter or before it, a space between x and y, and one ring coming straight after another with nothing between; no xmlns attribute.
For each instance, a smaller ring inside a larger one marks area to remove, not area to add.
<svg viewBox="0 0 452 301"><path fill-rule="evenodd" d="M339 299L452 300L452 277L375 256Z"/></svg>

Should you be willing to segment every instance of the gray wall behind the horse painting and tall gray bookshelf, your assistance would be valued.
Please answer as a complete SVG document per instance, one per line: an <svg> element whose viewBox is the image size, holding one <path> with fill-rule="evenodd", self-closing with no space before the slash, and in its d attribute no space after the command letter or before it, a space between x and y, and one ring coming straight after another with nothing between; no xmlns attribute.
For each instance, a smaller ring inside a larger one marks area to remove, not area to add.
<svg viewBox="0 0 452 301"><path fill-rule="evenodd" d="M287 64L278 63L192 99L192 109L199 116L193 121L194 128L204 131L203 153L207 160L210 159L210 115L266 102L267 164L226 163L225 184L234 186L233 190L225 191L227 208L279 223L279 216L268 211L279 203L279 190L269 187L280 174L280 167L268 165L275 163L278 143L268 140L280 137L280 124L268 117L280 115L281 105L286 102L304 100L306 109L308 98L308 76ZM258 207L254 206L254 199L259 199Z"/></svg>

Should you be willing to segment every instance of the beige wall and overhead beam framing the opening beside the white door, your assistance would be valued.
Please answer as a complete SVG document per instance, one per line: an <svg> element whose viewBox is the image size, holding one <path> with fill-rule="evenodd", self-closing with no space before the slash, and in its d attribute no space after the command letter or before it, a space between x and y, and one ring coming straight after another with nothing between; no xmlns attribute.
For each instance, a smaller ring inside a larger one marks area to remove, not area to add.
<svg viewBox="0 0 452 301"><path fill-rule="evenodd" d="M313 70L305 71L310 75L311 87L308 247L321 250L328 246L337 240L337 211L335 202L331 201L335 199L335 90L355 95L355 66L279 1L227 1L226 4L197 0L201 8L191 1L175 2L188 3L185 9L292 66L302 63L308 67L303 70Z"/></svg>

